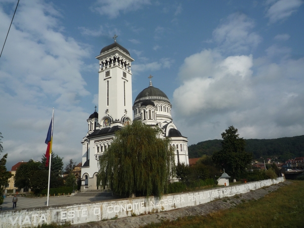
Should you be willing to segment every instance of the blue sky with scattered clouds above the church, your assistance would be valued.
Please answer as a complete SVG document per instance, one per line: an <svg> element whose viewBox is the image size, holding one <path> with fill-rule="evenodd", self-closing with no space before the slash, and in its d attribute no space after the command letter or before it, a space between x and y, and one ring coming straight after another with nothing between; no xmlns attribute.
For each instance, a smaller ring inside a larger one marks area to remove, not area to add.
<svg viewBox="0 0 304 228"><path fill-rule="evenodd" d="M4 44L17 0L0 0ZM7 168L41 160L54 107L53 151L79 163L98 105L100 50L132 63L134 98L148 87L172 103L188 145L304 134L301 0L20 0L0 58L0 132Z"/></svg>

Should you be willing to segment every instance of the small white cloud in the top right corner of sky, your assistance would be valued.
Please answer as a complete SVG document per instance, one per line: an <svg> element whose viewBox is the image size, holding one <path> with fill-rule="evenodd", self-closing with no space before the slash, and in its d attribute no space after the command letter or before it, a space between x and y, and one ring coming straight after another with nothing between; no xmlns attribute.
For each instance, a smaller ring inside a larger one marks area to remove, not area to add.
<svg viewBox="0 0 304 228"><path fill-rule="evenodd" d="M290 17L303 2L301 0L278 0L269 1L267 4L271 6L268 8L266 16L269 17L270 23L275 23Z"/></svg>

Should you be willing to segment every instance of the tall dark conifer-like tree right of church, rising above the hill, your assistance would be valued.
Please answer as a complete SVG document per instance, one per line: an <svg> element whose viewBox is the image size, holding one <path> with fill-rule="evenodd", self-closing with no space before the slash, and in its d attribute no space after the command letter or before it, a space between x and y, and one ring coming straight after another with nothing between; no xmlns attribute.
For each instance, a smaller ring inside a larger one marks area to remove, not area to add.
<svg viewBox="0 0 304 228"><path fill-rule="evenodd" d="M222 149L212 155L213 162L224 168L234 179L245 172L252 160L252 154L245 151L245 140L239 137L238 129L230 126L222 134Z"/></svg>

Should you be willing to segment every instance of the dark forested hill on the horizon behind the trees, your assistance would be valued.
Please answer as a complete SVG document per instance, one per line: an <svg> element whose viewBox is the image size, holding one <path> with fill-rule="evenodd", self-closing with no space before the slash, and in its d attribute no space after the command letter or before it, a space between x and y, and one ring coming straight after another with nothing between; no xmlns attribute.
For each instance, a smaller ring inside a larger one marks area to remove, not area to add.
<svg viewBox="0 0 304 228"><path fill-rule="evenodd" d="M245 139L246 151L253 154L254 159L260 157L275 158L286 161L295 157L304 157L304 135L277 139ZM200 158L212 155L221 149L221 140L207 140L188 146L189 158Z"/></svg>

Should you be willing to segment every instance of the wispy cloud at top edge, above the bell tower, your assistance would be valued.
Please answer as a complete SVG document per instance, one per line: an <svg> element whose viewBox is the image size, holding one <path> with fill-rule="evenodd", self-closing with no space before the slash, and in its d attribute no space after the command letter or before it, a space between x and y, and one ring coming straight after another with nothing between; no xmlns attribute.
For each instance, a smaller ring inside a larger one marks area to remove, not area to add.
<svg viewBox="0 0 304 228"><path fill-rule="evenodd" d="M141 9L144 5L149 5L150 0L97 0L95 6L91 9L101 15L108 15L110 18L116 18L120 12L127 13Z"/></svg>

